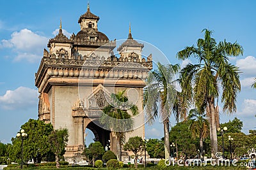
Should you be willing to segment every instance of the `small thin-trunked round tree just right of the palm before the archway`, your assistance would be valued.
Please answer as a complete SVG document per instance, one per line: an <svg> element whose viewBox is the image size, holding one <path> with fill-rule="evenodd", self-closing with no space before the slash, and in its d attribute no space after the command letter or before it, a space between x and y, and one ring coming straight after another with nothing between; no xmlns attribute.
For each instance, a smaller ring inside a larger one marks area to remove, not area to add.
<svg viewBox="0 0 256 170"><path fill-rule="evenodd" d="M145 150L145 142L143 139L139 136L134 136L132 138L129 138L127 143L124 145L124 150L128 150L134 153L135 156L135 166L138 167L137 165L137 159L139 156L139 153L142 153Z"/></svg>

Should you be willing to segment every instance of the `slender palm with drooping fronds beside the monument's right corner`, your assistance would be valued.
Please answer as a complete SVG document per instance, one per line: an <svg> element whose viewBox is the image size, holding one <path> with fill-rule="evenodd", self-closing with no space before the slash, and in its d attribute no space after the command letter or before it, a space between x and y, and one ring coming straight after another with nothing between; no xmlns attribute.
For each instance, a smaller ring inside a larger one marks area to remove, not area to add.
<svg viewBox="0 0 256 170"><path fill-rule="evenodd" d="M159 116L164 125L164 150L165 158L170 157L169 118L175 105L175 74L179 71L179 65L168 64L163 66L157 63L157 69L148 74L147 86L144 89L143 104L146 118L149 124ZM158 106L160 109L158 110ZM177 106L177 103L176 105ZM179 108L177 106L177 108ZM177 109L179 110L179 109Z"/></svg>

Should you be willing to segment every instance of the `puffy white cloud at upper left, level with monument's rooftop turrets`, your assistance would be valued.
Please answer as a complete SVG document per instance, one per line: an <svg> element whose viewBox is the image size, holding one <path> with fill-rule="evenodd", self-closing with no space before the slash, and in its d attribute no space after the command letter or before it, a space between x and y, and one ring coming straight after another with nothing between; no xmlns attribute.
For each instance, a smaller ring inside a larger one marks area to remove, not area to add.
<svg viewBox="0 0 256 170"><path fill-rule="evenodd" d="M47 45L48 38L40 36L29 29L15 31L11 35L11 39L2 39L1 48L13 48L13 52L17 53L14 60L26 59L29 62L40 60L44 47Z"/></svg>

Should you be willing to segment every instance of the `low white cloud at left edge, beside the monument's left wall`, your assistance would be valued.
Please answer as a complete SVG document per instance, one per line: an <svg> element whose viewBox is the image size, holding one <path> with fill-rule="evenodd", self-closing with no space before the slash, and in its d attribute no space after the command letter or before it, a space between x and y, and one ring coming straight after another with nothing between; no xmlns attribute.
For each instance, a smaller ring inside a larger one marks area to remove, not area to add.
<svg viewBox="0 0 256 170"><path fill-rule="evenodd" d="M26 109L35 105L37 101L37 90L19 87L15 90L7 90L3 96L0 96L0 107L4 110Z"/></svg>

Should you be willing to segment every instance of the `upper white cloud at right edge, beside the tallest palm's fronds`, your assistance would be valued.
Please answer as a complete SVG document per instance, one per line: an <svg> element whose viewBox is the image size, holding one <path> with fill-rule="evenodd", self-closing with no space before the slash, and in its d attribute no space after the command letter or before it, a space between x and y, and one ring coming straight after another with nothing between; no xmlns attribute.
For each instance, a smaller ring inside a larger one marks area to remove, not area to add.
<svg viewBox="0 0 256 170"><path fill-rule="evenodd" d="M236 61L236 66L239 67L245 75L255 74L256 59L253 56L248 56L245 59L239 59Z"/></svg>

